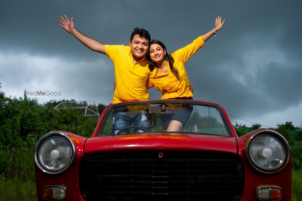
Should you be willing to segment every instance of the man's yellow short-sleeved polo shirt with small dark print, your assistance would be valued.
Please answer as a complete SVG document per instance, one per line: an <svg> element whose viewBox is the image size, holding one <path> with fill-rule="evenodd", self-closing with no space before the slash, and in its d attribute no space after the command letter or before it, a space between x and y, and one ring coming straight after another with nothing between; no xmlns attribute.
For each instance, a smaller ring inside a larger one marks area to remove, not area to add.
<svg viewBox="0 0 302 201"><path fill-rule="evenodd" d="M146 58L134 64L130 46L105 45L105 51L114 64L113 103L148 100L146 82L150 70Z"/></svg>

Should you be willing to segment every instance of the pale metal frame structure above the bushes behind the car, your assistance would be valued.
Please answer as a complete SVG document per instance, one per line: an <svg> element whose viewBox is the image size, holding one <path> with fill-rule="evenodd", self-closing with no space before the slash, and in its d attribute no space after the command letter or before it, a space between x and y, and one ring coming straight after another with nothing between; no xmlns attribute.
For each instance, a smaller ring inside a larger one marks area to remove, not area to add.
<svg viewBox="0 0 302 201"><path fill-rule="evenodd" d="M91 107L89 107L91 106ZM95 111L94 111L95 108ZM55 106L55 110L59 111L59 109L76 109L79 112L82 112L85 109L85 116L98 116L100 119L100 113L98 112L98 108L95 105L94 101L65 101L60 102Z"/></svg>

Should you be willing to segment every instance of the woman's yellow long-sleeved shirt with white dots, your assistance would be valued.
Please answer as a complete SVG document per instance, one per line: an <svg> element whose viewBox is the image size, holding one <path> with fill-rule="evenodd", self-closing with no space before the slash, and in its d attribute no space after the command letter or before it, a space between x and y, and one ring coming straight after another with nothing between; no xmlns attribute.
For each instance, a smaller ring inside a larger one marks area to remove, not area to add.
<svg viewBox="0 0 302 201"><path fill-rule="evenodd" d="M188 61L188 59L203 45L204 41L202 40L202 36L199 36L191 44L171 54L174 59L173 66L177 68L180 80L172 74L169 62L166 61L168 66L167 74L157 73L157 68L154 68L149 76L147 83L148 88L155 86L155 88L162 93L161 99L192 97L193 94L189 90L191 84L185 70L185 62Z"/></svg>

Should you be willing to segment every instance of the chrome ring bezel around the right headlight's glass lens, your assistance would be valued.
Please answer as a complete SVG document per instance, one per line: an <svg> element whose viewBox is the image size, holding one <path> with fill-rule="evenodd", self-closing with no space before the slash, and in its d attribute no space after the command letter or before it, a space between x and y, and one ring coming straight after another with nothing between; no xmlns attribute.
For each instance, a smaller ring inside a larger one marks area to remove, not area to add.
<svg viewBox="0 0 302 201"><path fill-rule="evenodd" d="M278 141L280 141L282 143L282 146L284 147L284 152L285 152L285 159L284 159L284 162L282 163L282 165L280 165L280 167L268 170L268 169L260 167L256 162L254 162L253 156L251 155L251 152L250 152L250 146L252 145L253 141L255 139L257 139L257 137L260 137L261 135L271 135L271 137L276 138ZM290 148L288 142L280 133L276 132L275 130L261 130L255 134L253 134L247 140L247 143L245 145L245 156L246 156L246 159L249 162L249 164L252 165L252 167L255 168L256 170L258 170L262 173L265 173L265 174L273 174L273 173L281 171L288 164L288 162L290 160L290 156L291 156L290 149L291 148Z"/></svg>

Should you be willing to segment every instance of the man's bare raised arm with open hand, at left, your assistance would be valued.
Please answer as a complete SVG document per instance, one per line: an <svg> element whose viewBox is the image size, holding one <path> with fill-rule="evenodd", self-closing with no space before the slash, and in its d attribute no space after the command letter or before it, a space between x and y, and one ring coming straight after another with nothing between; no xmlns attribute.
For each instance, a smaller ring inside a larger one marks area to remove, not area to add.
<svg viewBox="0 0 302 201"><path fill-rule="evenodd" d="M105 52L104 44L102 44L88 36L85 36L84 34L82 34L81 32L79 32L78 30L75 29L75 27L73 25L73 17L70 19L70 21L66 17L66 15L63 15L63 17L60 16L61 19L59 19L59 21L62 23L62 24L59 23L59 25L61 27L63 27L68 33L71 33L74 37L76 37L80 42L82 42L89 49L107 55Z"/></svg>

